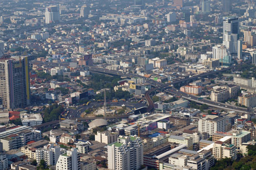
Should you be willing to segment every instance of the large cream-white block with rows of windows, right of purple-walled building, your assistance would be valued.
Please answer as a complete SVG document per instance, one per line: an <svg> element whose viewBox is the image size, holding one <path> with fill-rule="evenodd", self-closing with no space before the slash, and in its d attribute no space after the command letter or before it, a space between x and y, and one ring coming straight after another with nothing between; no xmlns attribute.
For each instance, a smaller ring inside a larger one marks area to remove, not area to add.
<svg viewBox="0 0 256 170"><path fill-rule="evenodd" d="M216 132L225 132L225 118L215 115L207 115L198 121L198 131L206 132L210 136Z"/></svg>

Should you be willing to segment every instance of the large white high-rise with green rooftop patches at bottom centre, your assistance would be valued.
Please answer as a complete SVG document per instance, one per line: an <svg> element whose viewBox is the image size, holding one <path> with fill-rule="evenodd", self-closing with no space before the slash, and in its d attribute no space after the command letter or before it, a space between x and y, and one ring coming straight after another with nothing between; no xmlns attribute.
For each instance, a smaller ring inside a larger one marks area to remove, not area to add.
<svg viewBox="0 0 256 170"><path fill-rule="evenodd" d="M119 136L108 145L108 169L139 169L143 165L143 144L137 136Z"/></svg>

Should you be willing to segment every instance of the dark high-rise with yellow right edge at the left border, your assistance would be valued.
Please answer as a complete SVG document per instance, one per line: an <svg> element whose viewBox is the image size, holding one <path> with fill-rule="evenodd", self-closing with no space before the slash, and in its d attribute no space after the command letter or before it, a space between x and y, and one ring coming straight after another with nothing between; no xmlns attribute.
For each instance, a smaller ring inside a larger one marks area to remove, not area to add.
<svg viewBox="0 0 256 170"><path fill-rule="evenodd" d="M7 109L25 108L30 103L29 62L27 57L0 61L0 101Z"/></svg>

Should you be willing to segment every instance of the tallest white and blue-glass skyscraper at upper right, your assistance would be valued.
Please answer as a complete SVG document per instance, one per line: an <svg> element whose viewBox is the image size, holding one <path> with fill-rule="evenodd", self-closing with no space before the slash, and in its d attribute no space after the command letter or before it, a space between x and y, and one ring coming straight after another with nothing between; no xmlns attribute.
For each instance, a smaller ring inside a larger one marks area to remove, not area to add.
<svg viewBox="0 0 256 170"><path fill-rule="evenodd" d="M236 16L223 17L223 45L231 55L238 54L239 19Z"/></svg>

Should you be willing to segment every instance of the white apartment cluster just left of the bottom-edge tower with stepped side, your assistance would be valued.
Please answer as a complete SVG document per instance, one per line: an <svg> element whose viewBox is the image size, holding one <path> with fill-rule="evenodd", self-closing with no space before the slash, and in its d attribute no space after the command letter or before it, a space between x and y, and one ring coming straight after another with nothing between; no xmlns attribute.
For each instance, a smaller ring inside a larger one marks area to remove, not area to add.
<svg viewBox="0 0 256 170"><path fill-rule="evenodd" d="M36 149L35 151L36 155L36 162L39 164L40 160L45 160L46 164L48 166L56 165L57 160L60 155L60 148L58 145L55 145L53 143L45 145L44 148Z"/></svg>

